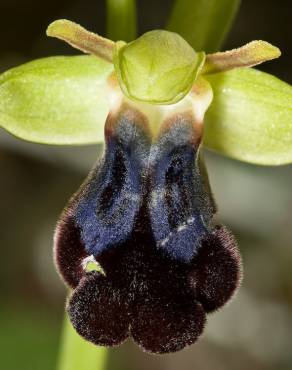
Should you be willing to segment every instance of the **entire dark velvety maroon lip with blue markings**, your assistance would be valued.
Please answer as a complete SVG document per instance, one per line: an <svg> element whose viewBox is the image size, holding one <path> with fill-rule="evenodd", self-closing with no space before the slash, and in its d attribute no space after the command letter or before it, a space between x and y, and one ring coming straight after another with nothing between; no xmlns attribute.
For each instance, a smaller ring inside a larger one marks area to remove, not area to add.
<svg viewBox="0 0 292 370"><path fill-rule="evenodd" d="M132 337L168 353L194 343L206 314L229 300L240 257L213 224L192 115L168 119L155 141L147 127L126 105L109 115L104 156L61 216L55 256L80 335L105 346ZM86 271L91 255L103 272Z"/></svg>

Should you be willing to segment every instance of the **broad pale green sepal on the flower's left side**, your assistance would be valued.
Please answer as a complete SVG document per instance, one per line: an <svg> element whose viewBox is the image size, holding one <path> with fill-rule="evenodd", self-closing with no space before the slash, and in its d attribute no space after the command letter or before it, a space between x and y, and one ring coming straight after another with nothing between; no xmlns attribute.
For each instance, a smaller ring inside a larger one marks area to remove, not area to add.
<svg viewBox="0 0 292 370"><path fill-rule="evenodd" d="M50 57L11 69L0 76L0 126L43 144L103 141L112 70L93 56Z"/></svg>

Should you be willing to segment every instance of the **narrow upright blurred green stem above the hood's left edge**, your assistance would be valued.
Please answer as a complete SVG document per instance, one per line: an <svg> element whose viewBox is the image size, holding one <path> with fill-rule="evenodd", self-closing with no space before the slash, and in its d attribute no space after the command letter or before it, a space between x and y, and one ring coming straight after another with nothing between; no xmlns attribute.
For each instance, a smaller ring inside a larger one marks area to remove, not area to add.
<svg viewBox="0 0 292 370"><path fill-rule="evenodd" d="M136 0L107 0L107 37L113 41L136 38Z"/></svg>

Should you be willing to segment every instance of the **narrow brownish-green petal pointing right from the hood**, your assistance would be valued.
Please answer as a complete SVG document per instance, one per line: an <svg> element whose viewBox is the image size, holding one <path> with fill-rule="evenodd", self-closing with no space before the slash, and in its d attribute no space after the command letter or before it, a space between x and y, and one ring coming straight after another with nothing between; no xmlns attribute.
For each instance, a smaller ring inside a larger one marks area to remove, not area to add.
<svg viewBox="0 0 292 370"><path fill-rule="evenodd" d="M224 52L208 54L202 73L217 73L239 67L252 67L279 58L281 51L266 41L256 40Z"/></svg>

